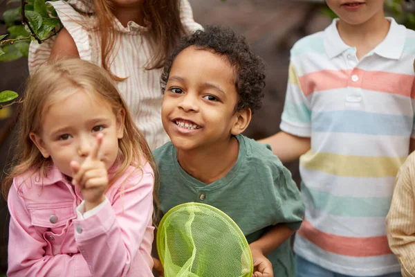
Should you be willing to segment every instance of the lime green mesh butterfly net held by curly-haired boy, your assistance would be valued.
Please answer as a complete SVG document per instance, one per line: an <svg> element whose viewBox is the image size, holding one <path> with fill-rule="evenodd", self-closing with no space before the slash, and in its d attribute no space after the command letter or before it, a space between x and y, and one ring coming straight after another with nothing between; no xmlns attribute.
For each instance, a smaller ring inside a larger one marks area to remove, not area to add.
<svg viewBox="0 0 415 277"><path fill-rule="evenodd" d="M207 204L168 211L158 225L157 251L165 277L251 277L254 269L241 229Z"/></svg>

